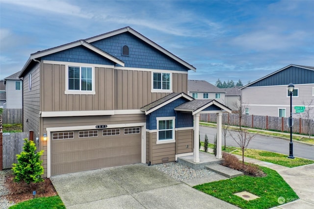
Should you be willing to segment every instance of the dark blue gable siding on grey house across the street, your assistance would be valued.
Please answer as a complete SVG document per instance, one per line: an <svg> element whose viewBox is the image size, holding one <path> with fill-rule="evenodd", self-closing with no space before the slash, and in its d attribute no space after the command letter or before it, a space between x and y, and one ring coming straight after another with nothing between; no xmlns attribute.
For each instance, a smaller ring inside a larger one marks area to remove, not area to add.
<svg viewBox="0 0 314 209"><path fill-rule="evenodd" d="M293 84L314 83L314 70L307 70L291 66L285 70L281 70L267 78L264 78L252 85L253 86L276 86Z"/></svg>

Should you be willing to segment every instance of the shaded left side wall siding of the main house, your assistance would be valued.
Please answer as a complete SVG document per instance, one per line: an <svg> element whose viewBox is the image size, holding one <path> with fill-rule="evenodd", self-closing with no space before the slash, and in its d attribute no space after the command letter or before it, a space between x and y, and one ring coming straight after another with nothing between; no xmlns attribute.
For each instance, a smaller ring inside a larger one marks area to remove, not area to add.
<svg viewBox="0 0 314 209"><path fill-rule="evenodd" d="M23 80L23 131L34 131L34 136L39 137L40 124L40 65L35 65L24 76ZM31 73L31 81L29 74ZM31 82L31 90L29 90L29 82ZM38 145L38 144L36 144Z"/></svg>

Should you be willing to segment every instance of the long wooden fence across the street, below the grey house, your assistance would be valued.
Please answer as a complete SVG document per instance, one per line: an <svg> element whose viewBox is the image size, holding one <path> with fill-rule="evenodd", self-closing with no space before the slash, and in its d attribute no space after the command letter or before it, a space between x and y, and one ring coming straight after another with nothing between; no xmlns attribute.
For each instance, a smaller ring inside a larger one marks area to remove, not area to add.
<svg viewBox="0 0 314 209"><path fill-rule="evenodd" d="M217 122L217 116L215 113L200 114L200 120L205 122ZM277 130L290 132L290 128L287 125L288 117L271 117L271 116L254 116L243 115L241 119L241 126L250 128L259 128L265 130ZM237 114L222 114L222 122L224 124L239 125L239 116ZM314 120L312 120L314 123ZM308 134L308 127L306 120L303 118L293 118L293 133ZM311 135L314 135L314 126L311 129Z"/></svg>

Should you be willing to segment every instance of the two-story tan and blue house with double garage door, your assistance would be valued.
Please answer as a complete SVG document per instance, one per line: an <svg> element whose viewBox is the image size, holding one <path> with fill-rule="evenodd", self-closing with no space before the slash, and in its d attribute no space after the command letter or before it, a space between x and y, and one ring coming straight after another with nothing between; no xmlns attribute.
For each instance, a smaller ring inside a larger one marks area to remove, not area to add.
<svg viewBox="0 0 314 209"><path fill-rule="evenodd" d="M187 155L200 162L199 114L216 113L221 130L231 110L187 95L188 70L130 27L31 54L20 73L23 125L45 151L44 177Z"/></svg>

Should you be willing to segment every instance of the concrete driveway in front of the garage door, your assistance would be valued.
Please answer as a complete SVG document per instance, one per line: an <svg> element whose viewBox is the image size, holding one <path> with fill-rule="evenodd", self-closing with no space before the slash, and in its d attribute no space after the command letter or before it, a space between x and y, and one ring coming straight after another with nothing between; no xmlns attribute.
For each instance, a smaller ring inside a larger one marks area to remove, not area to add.
<svg viewBox="0 0 314 209"><path fill-rule="evenodd" d="M191 209L237 207L146 164L51 177L67 209Z"/></svg>

